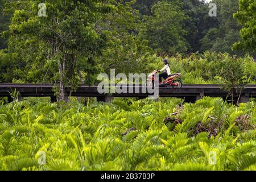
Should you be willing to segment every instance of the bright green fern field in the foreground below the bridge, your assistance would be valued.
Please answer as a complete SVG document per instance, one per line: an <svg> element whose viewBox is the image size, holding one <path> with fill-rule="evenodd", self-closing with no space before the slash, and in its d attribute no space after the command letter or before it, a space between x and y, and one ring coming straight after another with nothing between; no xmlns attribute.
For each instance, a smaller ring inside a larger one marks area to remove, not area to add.
<svg viewBox="0 0 256 182"><path fill-rule="evenodd" d="M13 102L0 106L0 169L255 170L254 106Z"/></svg>

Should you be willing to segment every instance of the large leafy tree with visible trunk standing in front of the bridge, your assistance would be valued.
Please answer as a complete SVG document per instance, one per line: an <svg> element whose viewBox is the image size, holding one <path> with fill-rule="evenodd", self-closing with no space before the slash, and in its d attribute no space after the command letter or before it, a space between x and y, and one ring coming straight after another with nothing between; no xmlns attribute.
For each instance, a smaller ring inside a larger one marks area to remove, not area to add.
<svg viewBox="0 0 256 182"><path fill-rule="evenodd" d="M65 98L65 86L74 86L77 82L78 71L86 73L88 84L96 76L95 57L107 41L106 32L98 32L96 22L114 8L108 2L47 1L45 17L38 16L41 1L16 2L16 6L23 3L30 10L20 8L14 11L10 36L19 36L30 45L36 42L39 49L34 53L40 52L37 62L47 57L51 62L48 65L57 65L54 74L59 81L59 100Z"/></svg>

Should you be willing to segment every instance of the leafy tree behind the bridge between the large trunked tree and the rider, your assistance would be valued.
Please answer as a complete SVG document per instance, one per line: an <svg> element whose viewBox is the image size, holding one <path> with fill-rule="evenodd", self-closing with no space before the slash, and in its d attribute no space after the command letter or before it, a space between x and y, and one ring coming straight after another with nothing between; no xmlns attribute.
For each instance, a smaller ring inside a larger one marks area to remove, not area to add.
<svg viewBox="0 0 256 182"><path fill-rule="evenodd" d="M146 41L138 38L141 21L138 10L133 9L135 1L113 2L117 10L105 15L97 24L101 31L109 31L108 46L98 57L104 71L115 69L117 73L134 73L143 71L145 63L140 59L150 49Z"/></svg>

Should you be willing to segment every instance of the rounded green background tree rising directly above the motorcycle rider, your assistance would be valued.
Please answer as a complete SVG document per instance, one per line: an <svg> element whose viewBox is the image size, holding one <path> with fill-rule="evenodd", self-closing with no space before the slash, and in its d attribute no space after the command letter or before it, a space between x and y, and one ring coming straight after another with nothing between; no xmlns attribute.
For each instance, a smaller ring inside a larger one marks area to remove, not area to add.
<svg viewBox="0 0 256 182"><path fill-rule="evenodd" d="M186 52L188 43L184 36L184 11L171 2L158 2L152 7L153 16L148 16L142 28L141 38L161 54Z"/></svg>

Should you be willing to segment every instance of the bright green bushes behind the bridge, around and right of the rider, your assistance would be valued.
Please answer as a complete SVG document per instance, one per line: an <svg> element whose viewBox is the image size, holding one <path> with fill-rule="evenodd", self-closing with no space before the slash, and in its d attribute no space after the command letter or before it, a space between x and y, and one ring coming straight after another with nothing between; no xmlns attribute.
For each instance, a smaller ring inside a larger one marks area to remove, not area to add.
<svg viewBox="0 0 256 182"><path fill-rule="evenodd" d="M162 58L156 55L144 58L148 64L144 72L162 67ZM184 84L255 84L256 63L253 57L230 56L228 53L193 53L190 56L167 57L172 73L181 73ZM232 86L231 86L232 87Z"/></svg>

